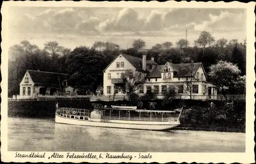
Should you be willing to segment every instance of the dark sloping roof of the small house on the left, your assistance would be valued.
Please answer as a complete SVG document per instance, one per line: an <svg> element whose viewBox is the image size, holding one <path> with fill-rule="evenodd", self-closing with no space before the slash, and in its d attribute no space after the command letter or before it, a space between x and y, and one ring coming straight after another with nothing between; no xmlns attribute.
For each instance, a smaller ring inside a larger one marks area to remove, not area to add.
<svg viewBox="0 0 256 164"><path fill-rule="evenodd" d="M68 80L68 74L28 70L28 73L35 85L59 86L59 80Z"/></svg>

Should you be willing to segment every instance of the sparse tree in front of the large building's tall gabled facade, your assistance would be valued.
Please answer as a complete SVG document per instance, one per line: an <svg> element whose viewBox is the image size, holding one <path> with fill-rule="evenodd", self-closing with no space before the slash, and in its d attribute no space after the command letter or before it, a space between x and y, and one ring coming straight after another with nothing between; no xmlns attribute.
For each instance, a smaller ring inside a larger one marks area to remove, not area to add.
<svg viewBox="0 0 256 164"><path fill-rule="evenodd" d="M124 90L127 93L127 95L130 97L132 93L138 90L141 83L144 82L144 78L139 72L125 71L122 74L120 82L123 83Z"/></svg>

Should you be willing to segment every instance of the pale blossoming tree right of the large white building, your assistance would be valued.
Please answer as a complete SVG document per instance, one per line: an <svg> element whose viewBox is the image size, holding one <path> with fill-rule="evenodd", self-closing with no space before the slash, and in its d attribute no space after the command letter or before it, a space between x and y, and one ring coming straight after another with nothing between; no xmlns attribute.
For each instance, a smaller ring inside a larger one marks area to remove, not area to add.
<svg viewBox="0 0 256 164"><path fill-rule="evenodd" d="M209 76L213 82L221 87L222 94L227 99L224 88L232 87L240 73L241 71L236 64L221 60L217 64L210 66Z"/></svg>

